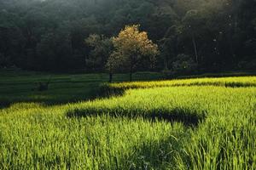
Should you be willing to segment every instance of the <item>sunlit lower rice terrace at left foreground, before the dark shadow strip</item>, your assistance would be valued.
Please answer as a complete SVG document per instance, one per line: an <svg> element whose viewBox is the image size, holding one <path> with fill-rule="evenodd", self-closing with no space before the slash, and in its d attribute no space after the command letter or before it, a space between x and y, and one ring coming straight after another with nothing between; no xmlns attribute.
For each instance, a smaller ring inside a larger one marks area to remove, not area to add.
<svg viewBox="0 0 256 170"><path fill-rule="evenodd" d="M64 113L71 108L23 104L2 111L0 169L166 167L181 147L182 139L177 137L187 135L181 123L111 116L68 118Z"/></svg>

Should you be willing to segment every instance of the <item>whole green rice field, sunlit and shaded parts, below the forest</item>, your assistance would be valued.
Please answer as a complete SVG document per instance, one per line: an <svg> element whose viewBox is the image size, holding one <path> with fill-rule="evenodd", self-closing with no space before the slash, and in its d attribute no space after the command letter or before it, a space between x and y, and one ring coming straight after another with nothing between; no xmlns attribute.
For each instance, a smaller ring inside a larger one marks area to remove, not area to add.
<svg viewBox="0 0 256 170"><path fill-rule="evenodd" d="M256 77L0 75L0 169L256 169Z"/></svg>

